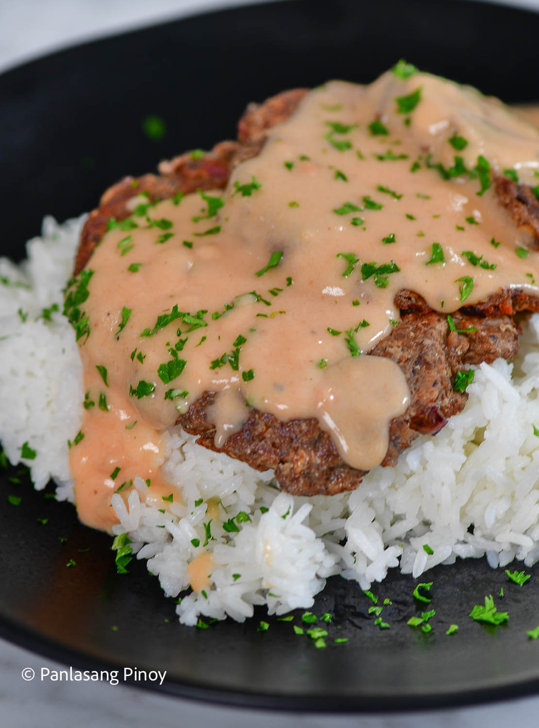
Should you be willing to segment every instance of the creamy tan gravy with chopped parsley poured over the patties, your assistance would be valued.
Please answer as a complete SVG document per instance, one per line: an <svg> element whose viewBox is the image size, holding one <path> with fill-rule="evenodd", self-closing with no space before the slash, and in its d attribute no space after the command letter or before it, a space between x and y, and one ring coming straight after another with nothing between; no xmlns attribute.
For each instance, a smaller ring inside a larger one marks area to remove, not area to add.
<svg viewBox="0 0 539 728"><path fill-rule="evenodd" d="M396 99L418 88L417 106L399 113ZM455 151L455 136L465 149ZM398 325L397 291L417 291L449 314L500 288L537 292L539 281L535 254L516 254L526 235L492 189L478 195L480 181L468 175L444 180L425 165L428 153L444 167L458 155L468 170L481 154L535 186L539 132L496 100L434 76L331 82L269 132L225 191L165 200L147 217L135 208L146 200L133 201L137 227L108 232L87 266L81 352L96 405L71 448L85 523L110 529L111 493L135 473L151 479L150 491L166 490L160 432L207 390L219 392L211 408L219 446L252 405L283 420L318 418L353 467L382 461L409 391L393 361L361 353ZM444 261L428 264L434 244ZM495 267L473 266L464 251ZM365 263L390 272L363 276ZM191 318L156 327L175 311ZM96 366L106 367L108 386ZM109 412L98 409L100 392ZM112 481L115 464L122 472Z"/></svg>

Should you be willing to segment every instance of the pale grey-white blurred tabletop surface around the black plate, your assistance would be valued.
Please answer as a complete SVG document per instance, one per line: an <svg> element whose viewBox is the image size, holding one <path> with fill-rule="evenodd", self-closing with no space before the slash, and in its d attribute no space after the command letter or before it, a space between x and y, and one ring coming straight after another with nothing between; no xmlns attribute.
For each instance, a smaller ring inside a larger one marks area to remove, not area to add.
<svg viewBox="0 0 539 728"><path fill-rule="evenodd" d="M260 0L0 0L0 72L76 42L225 5ZM286 1L286 0L282 0ZM361 1L361 0L358 0ZM465 0L463 0L465 1ZM539 11L539 0L505 0ZM539 657L538 657L539 659ZM24 668L64 668L0 640L2 728L163 728L208 725L224 728L497 728L539 724L539 696L472 708L389 716L269 713L178 700L122 684L24 681Z"/></svg>

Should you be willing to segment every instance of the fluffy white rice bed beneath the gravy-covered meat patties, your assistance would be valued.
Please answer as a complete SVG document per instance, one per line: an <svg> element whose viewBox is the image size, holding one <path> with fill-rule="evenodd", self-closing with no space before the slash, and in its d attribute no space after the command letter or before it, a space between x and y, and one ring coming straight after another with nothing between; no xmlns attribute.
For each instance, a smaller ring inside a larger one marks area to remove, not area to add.
<svg viewBox="0 0 539 728"><path fill-rule="evenodd" d="M60 313L50 321L40 314L53 303L61 310L82 221L58 226L46 218L43 237L28 243L28 261L0 260L0 440L13 464L28 443L36 458L22 462L36 488L52 478L58 497L71 500L67 442L82 422L82 367L71 326ZM176 428L164 465L176 486L170 510L161 513L163 503L135 478L127 505L113 496L114 532L128 534L133 553L175 598L189 588L189 562L213 553L211 587L178 604L188 625L200 615L243 621L256 604L270 614L309 608L331 574L367 589L390 567L419 577L457 556L532 566L539 559L538 391L535 314L514 365L477 367L464 411L444 430L418 438L396 467L372 470L351 494L330 497L283 493L271 471L208 451ZM224 529L238 513L248 515L234 521L238 530Z"/></svg>

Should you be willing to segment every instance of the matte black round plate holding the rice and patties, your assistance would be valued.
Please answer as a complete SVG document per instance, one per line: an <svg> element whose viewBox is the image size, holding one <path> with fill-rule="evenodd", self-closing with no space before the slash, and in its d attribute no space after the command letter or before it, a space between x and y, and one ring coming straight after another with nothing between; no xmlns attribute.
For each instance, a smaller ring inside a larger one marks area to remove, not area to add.
<svg viewBox="0 0 539 728"><path fill-rule="evenodd" d="M284 88L332 77L368 82L404 57L511 102L537 100L530 69L538 37L539 15L482 3L289 1L159 25L15 68L0 76L1 253L22 257L45 213L77 215L125 173L232 137L249 100ZM165 119L162 141L143 135L147 114ZM539 624L539 569L518 587L484 560L436 568L422 579L434 582L430 605L412 597L414 579L390 574L374 587L393 600L387 630L374 625L357 585L332 579L313 610L334 614L326 649L288 622L270 619L258 632L264 612L245 625L184 628L142 563L115 574L109 537L81 526L73 507L10 481L14 472L0 477L4 503L23 496L0 513L0 633L36 652L86 668L167 670L162 690L181 697L304 711L430 708L539 689L539 643L525 634ZM71 558L76 567L66 568ZM473 622L473 605L502 586L497 603L508 625ZM406 625L425 607L436 609L429 634ZM451 622L460 630L448 637ZM340 636L349 641L334 644Z"/></svg>

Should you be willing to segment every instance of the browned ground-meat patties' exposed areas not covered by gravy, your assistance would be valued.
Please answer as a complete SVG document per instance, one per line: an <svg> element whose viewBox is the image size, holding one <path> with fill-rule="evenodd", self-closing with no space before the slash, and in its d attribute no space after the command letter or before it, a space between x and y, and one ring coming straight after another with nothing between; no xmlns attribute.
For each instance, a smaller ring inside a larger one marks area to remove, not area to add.
<svg viewBox="0 0 539 728"><path fill-rule="evenodd" d="M122 220L130 215L127 202L131 198L146 193L149 199L158 201L179 191L188 194L224 188L232 170L259 154L267 130L285 121L305 93L307 90L296 89L261 105L250 104L238 125L238 141L221 142L200 159L182 154L162 162L159 175L125 177L108 189L82 230L75 274L89 261L110 218ZM493 180L493 188L516 226L530 235L530 248L539 249L539 202L530 188L501 177ZM468 395L453 389L457 371L468 364L492 363L497 357L512 359L518 352L521 333L514 317L521 312L539 311L539 298L522 290L504 290L452 314L455 329L476 329L473 333L458 333L449 329L446 315L430 309L413 291L399 291L395 303L401 324L369 355L388 357L399 365L411 402L406 412L390 423L389 446L382 465L394 465L418 434L435 434L448 417L460 412ZM215 398L216 392L204 392L176 423L192 435L199 435L200 445L243 460L256 470L274 468L280 487L294 495L332 495L353 490L361 483L366 471L356 470L342 460L331 436L314 418L281 422L251 408L242 429L230 435L222 448L216 448L215 427L208 419L208 406Z"/></svg>

